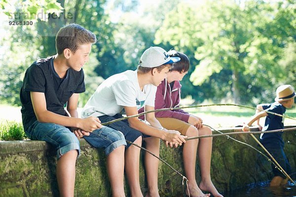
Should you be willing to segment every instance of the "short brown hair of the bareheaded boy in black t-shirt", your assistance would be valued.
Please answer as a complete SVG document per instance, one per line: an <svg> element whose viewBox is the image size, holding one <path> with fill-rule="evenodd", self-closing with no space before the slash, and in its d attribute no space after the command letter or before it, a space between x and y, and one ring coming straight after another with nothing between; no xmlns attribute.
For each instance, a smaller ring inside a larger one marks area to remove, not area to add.
<svg viewBox="0 0 296 197"><path fill-rule="evenodd" d="M62 54L65 49L73 53L80 44L96 43L96 35L77 24L67 25L59 30L56 36L56 50Z"/></svg>

